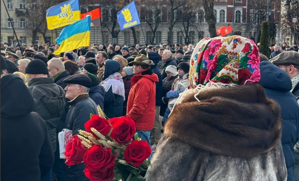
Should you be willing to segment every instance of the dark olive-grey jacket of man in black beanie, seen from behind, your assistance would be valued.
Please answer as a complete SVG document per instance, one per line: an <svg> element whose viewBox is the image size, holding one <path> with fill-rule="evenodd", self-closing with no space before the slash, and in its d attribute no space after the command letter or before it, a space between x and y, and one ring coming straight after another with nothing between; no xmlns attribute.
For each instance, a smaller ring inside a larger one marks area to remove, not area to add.
<svg viewBox="0 0 299 181"><path fill-rule="evenodd" d="M28 85L35 101L34 111L45 120L55 152L56 128L66 105L65 92L54 83L53 78L34 78L29 80Z"/></svg>

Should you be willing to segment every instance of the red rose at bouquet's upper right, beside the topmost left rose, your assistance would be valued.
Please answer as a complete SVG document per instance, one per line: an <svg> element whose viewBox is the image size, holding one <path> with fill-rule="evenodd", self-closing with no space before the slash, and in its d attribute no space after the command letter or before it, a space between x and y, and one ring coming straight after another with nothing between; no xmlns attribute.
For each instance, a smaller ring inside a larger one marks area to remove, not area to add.
<svg viewBox="0 0 299 181"><path fill-rule="evenodd" d="M117 143L125 145L133 138L136 128L135 122L129 117L118 117L110 119L112 124L111 138Z"/></svg>

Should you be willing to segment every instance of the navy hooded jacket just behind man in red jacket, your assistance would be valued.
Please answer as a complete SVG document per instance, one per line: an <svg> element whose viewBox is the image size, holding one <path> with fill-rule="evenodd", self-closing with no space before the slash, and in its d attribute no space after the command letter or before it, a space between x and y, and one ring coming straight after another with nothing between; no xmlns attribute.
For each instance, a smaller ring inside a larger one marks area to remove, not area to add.
<svg viewBox="0 0 299 181"><path fill-rule="evenodd" d="M161 72L158 68L158 63L160 61L160 55L156 52L148 52L148 57L154 62L155 65L150 66L153 73L158 75L159 82L156 82L156 106L162 105L162 91L163 91L163 79Z"/></svg>

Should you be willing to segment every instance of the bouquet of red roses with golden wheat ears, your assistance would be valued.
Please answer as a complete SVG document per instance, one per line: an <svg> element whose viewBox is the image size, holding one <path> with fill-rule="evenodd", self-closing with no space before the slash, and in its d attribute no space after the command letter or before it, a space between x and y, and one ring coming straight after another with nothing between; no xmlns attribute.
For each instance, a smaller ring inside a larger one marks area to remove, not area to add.
<svg viewBox="0 0 299 181"><path fill-rule="evenodd" d="M141 181L150 164L151 148L135 133L135 122L129 117L105 119L91 115L65 148L66 165L84 163L84 173L92 181ZM135 140L132 140L134 137Z"/></svg>

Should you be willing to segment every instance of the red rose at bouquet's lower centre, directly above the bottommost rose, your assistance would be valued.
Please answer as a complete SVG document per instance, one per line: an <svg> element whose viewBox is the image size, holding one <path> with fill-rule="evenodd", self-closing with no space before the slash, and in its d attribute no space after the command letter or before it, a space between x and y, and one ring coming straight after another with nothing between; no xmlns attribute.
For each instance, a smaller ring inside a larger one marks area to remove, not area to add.
<svg viewBox="0 0 299 181"><path fill-rule="evenodd" d="M83 161L90 171L104 172L114 165L117 154L113 156L111 148L93 145L84 154Z"/></svg>

